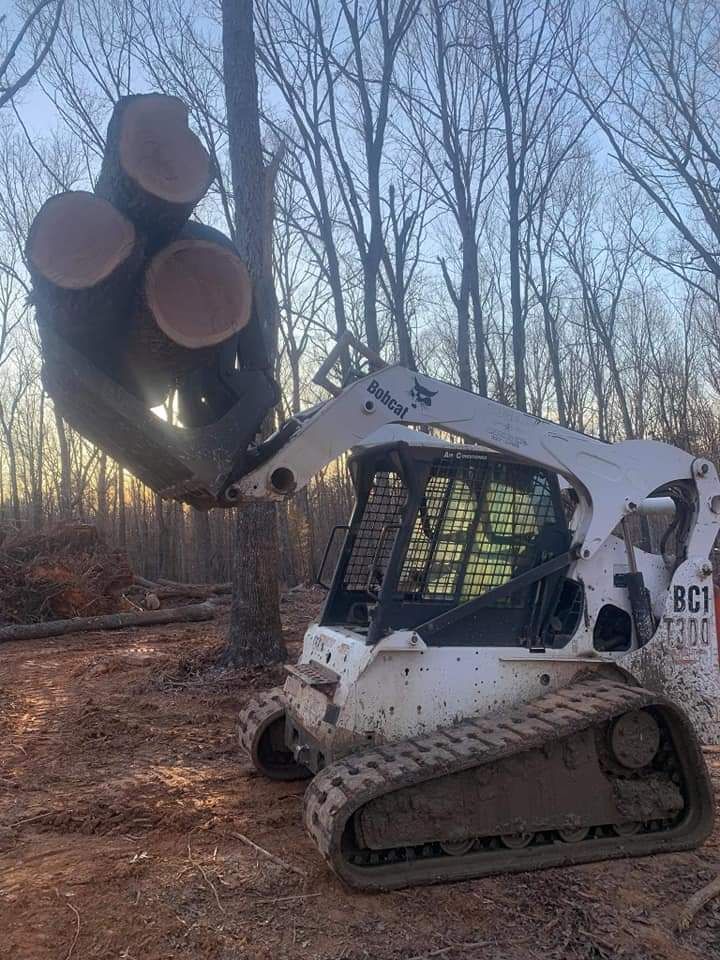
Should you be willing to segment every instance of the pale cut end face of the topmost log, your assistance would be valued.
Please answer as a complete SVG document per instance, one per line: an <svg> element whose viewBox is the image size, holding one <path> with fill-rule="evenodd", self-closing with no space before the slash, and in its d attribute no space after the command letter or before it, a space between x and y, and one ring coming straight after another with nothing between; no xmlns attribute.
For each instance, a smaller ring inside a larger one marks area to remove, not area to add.
<svg viewBox="0 0 720 960"><path fill-rule="evenodd" d="M119 159L128 177L169 203L197 203L212 180L210 157L177 97L133 98L122 117Z"/></svg>

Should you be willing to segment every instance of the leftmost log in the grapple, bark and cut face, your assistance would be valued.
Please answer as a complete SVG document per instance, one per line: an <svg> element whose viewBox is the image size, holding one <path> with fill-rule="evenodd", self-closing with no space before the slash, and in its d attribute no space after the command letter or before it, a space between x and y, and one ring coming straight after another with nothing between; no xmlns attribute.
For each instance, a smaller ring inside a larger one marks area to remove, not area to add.
<svg viewBox="0 0 720 960"><path fill-rule="evenodd" d="M27 262L41 332L53 329L86 355L121 339L142 272L132 223L85 191L51 197L30 228Z"/></svg>

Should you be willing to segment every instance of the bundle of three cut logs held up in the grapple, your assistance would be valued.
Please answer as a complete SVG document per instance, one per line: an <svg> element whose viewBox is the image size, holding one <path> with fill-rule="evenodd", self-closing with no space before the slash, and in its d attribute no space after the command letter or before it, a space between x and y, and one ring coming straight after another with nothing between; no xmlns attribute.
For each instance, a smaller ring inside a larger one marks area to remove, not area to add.
<svg viewBox="0 0 720 960"><path fill-rule="evenodd" d="M181 100L124 97L95 192L51 197L28 235L41 335L53 329L151 407L211 367L250 318L232 242L188 221L213 177Z"/></svg>

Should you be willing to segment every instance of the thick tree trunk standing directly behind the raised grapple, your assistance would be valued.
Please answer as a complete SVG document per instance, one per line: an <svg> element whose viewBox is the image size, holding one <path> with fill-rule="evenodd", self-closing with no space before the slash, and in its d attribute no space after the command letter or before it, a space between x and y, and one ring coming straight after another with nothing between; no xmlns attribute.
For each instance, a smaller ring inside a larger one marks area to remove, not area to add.
<svg viewBox="0 0 720 960"><path fill-rule="evenodd" d="M236 244L253 282L253 309L261 321L266 348L274 352L277 302L272 278L272 183L268 182L260 140L252 0L222 0L222 23ZM251 504L237 513L233 604L224 660L249 665L284 658L275 506Z"/></svg>

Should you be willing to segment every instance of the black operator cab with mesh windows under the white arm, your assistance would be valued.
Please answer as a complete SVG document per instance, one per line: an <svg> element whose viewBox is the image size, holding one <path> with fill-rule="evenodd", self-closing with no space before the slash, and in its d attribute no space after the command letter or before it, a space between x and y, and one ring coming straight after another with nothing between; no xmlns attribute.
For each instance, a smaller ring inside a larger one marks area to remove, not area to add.
<svg viewBox="0 0 720 960"><path fill-rule="evenodd" d="M555 474L403 441L363 448L349 468L356 504L334 531L346 535L321 624L368 643L408 629L430 645L568 642L583 595L565 577L571 534Z"/></svg>

